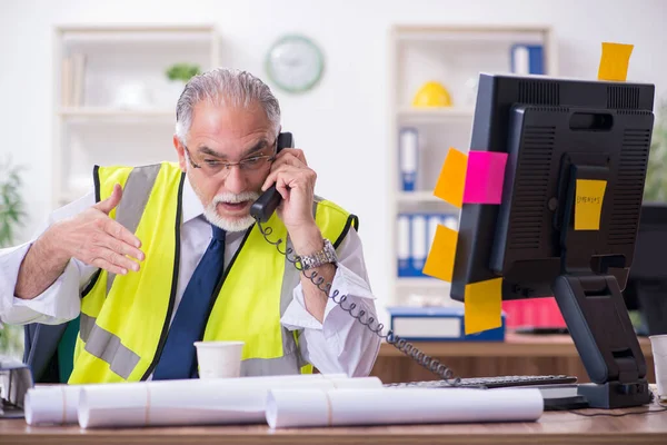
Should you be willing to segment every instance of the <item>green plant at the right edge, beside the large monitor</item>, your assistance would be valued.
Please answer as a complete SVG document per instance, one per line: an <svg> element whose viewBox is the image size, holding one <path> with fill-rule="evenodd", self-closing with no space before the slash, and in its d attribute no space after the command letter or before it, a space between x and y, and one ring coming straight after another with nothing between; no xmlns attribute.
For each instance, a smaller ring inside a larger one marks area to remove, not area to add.
<svg viewBox="0 0 667 445"><path fill-rule="evenodd" d="M648 169L644 186L645 202L667 201L667 98L660 101L656 110L656 121L648 156Z"/></svg>

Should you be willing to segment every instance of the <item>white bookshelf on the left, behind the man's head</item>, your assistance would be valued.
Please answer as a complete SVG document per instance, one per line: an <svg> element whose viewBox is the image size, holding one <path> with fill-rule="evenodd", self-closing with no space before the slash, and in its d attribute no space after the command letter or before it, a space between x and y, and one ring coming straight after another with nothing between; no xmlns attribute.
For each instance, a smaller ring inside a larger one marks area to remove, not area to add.
<svg viewBox="0 0 667 445"><path fill-rule="evenodd" d="M166 71L220 65L212 24L73 24L53 36L52 207L92 186L94 165L176 160L176 102Z"/></svg>

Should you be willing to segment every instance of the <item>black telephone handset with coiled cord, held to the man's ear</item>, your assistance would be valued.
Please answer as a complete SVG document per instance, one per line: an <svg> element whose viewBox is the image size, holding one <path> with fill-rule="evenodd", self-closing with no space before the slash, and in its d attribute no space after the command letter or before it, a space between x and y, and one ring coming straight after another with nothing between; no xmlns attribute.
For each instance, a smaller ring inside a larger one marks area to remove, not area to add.
<svg viewBox="0 0 667 445"><path fill-rule="evenodd" d="M291 132L281 132L280 135L278 135L277 152L279 152L286 147L295 147L295 139ZM303 274L303 276L310 279L312 284L315 284L322 293L325 293L325 295L331 298L334 303L340 306L340 308L348 313L352 318L356 318L368 329L377 334L380 338L396 347L401 353L406 354L408 357L411 357L419 365L436 374L438 377L445 379L449 385L457 386L460 383L460 378L454 378L454 372L450 368L439 363L436 358L429 357L428 355L424 354L422 352L417 349L415 345L394 334L392 330L389 330L386 335L382 335L382 329L385 326L381 323L378 323L374 317L368 316L364 309L355 312L355 309L357 308L357 304L355 303L348 301L348 305L344 306L344 303L348 299L347 295L340 295L338 290L331 290L331 284L325 284L322 277L318 278L318 274L316 270L303 270L301 267L301 263L299 261L298 255L295 254L292 248L287 247L287 243L286 247L281 247L281 245L285 243L282 239L269 239L269 235L271 235L273 230L271 227L263 226L263 224L269 220L271 215L273 215L273 211L276 211L276 208L280 205L281 199L282 197L276 189L276 185L272 185L250 207L250 215L257 221L259 231L267 240L267 243L276 246L278 251L287 257L287 260L289 263L291 263L298 270L300 270Z"/></svg>

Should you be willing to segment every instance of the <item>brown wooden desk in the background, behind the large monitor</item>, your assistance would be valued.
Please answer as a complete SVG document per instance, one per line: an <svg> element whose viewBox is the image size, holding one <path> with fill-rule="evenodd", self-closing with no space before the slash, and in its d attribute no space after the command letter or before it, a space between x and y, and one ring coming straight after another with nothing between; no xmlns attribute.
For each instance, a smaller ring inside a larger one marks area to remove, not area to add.
<svg viewBox="0 0 667 445"><path fill-rule="evenodd" d="M425 354L436 357L459 377L497 375L567 374L590 382L569 335L520 335L508 333L496 342L415 342ZM647 379L655 382L650 340L639 338L646 358ZM371 375L382 383L432 380L438 378L394 346L384 343ZM667 444L667 441L665 442Z"/></svg>

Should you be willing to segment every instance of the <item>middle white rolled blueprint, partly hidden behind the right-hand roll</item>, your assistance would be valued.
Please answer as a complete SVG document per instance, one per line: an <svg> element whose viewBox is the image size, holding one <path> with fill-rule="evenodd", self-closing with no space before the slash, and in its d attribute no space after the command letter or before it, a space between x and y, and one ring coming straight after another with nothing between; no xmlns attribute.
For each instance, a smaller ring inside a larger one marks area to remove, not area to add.
<svg viewBox="0 0 667 445"><path fill-rule="evenodd" d="M266 423L271 388L380 388L377 377L221 378L196 385L123 385L81 389L82 428Z"/></svg>

